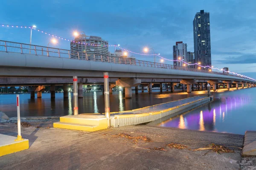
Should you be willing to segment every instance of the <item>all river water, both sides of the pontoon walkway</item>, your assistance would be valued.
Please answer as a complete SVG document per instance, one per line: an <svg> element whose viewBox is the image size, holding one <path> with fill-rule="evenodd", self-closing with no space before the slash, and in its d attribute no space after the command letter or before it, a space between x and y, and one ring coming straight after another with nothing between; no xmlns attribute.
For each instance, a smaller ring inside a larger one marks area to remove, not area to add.
<svg viewBox="0 0 256 170"><path fill-rule="evenodd" d="M134 92L134 91L133 91ZM198 96L204 92L152 94L132 94L125 99L122 91L113 91L110 95L110 108L113 111L127 111L149 105ZM213 93L214 101L192 111L164 120L158 126L178 127L182 129L205 130L244 134L246 130L256 130L256 88L222 91ZM9 117L17 116L16 94L0 94L0 111ZM79 113L104 113L104 95L99 92L84 92L79 99ZM64 116L73 114L73 93L67 99L62 93L42 94L40 99L30 99L30 94L20 94L20 116Z"/></svg>

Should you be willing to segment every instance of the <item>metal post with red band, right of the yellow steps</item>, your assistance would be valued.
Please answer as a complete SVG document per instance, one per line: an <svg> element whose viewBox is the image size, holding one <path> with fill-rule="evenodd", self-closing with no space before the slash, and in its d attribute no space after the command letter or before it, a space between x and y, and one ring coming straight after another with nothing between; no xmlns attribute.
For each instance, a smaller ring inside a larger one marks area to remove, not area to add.
<svg viewBox="0 0 256 170"><path fill-rule="evenodd" d="M104 72L104 97L105 97L105 116L108 120L108 127L111 126L110 120L110 107L109 107L109 84L108 72Z"/></svg>

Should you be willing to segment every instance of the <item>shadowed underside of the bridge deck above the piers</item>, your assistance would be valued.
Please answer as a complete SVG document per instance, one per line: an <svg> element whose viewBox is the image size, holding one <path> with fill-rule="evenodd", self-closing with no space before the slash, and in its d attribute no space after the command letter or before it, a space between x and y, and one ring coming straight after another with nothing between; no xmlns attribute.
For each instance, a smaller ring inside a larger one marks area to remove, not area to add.
<svg viewBox="0 0 256 170"><path fill-rule="evenodd" d="M25 67L0 67L0 85L62 85L72 84L73 76L79 77L78 82L83 84L102 84L102 71L49 69L49 68L25 68ZM148 82L177 82L182 79L197 79L197 82L207 82L209 79L233 80L230 78L213 78L202 76L185 76L174 74L149 74L132 72L109 71L109 82L115 83L120 78L141 79L142 83Z"/></svg>

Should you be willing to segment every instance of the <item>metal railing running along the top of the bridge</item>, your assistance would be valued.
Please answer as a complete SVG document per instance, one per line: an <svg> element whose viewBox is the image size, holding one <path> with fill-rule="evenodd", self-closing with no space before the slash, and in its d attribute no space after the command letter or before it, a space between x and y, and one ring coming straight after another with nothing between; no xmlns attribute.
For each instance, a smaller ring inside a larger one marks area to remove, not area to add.
<svg viewBox="0 0 256 170"><path fill-rule="evenodd" d="M188 68L183 66L169 65L169 64L157 63L157 62L154 63L154 62L134 59L131 57L111 57L111 56L102 56L97 54L88 55L84 51L70 51L70 50L59 49L59 48L30 45L30 44L9 42L9 41L3 41L3 40L0 40L0 51L227 75L224 73L218 73L210 70ZM232 74L228 74L228 75L233 77L240 77Z"/></svg>

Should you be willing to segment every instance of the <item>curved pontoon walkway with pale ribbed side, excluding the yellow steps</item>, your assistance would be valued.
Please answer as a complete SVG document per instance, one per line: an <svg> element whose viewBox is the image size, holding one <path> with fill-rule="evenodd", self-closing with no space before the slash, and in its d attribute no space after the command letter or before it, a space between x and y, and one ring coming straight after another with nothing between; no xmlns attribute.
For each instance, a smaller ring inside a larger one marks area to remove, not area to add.
<svg viewBox="0 0 256 170"><path fill-rule="evenodd" d="M190 99L191 101L187 102L188 99ZM213 101L213 96L204 97L204 98L191 97L191 98L181 99L174 102L167 102L160 105L153 105L145 108L135 109L132 111L126 111L121 114L111 115L111 126L120 127L120 126L128 126L128 125L138 125L141 123L146 123L146 122L151 122L157 119L161 119L165 116L170 116L170 115L177 116L176 114L177 112L187 111L187 110L196 108L200 105L204 105L205 103L208 103L210 101ZM177 103L177 105L175 105L176 104L175 102ZM168 105L170 104L175 106L168 108ZM154 106L160 106L160 108L151 109Z"/></svg>

